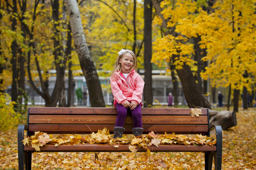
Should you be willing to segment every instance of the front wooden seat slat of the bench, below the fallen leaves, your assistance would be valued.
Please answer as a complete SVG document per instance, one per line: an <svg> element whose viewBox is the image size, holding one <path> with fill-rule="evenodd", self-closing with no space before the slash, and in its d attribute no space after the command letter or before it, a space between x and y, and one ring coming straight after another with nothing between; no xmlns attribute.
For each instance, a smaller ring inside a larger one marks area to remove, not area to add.
<svg viewBox="0 0 256 170"><path fill-rule="evenodd" d="M73 145L60 145L55 147L54 145L47 145L40 147L42 152L130 152L129 145L118 145L118 148L114 148L115 145L105 144L80 144L78 146ZM141 147L137 147L137 152L146 152L147 150ZM192 145L159 145L148 146L150 151L154 152L205 152L216 151L216 146L192 146ZM35 151L31 146L24 146L24 151Z"/></svg>

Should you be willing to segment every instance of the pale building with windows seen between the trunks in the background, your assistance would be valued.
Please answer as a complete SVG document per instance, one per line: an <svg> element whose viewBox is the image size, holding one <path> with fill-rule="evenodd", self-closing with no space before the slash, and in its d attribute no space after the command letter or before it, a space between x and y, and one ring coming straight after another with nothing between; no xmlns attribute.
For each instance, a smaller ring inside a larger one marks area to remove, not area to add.
<svg viewBox="0 0 256 170"><path fill-rule="evenodd" d="M138 71L139 74L141 74L143 78L143 70ZM104 100L106 105L112 105L113 104L113 95L110 87L110 80L109 76L100 76L100 82L102 87L102 92L104 95ZM53 88L55 86L56 77L51 76L49 78L49 94L52 93ZM74 106L84 106L84 107L90 107L90 101L89 101L89 92L88 87L86 84L86 80L84 75L81 76L74 76L74 88L73 88L73 104ZM178 84L178 103L179 105L184 104L184 95L181 83ZM40 86L38 86L40 89ZM77 100L76 96L76 90L78 88L81 88L82 91L82 100ZM171 76L165 75L165 70L152 70L152 95L153 95L153 104L155 105L167 105L168 102L168 94L171 92L173 94L173 87L171 82ZM7 93L11 94L11 87L8 88ZM29 84L26 84L26 93L28 96L28 105L45 105L45 101L42 98L42 96L38 95L32 88L30 88ZM66 101L68 97L68 78L65 78L65 96Z"/></svg>

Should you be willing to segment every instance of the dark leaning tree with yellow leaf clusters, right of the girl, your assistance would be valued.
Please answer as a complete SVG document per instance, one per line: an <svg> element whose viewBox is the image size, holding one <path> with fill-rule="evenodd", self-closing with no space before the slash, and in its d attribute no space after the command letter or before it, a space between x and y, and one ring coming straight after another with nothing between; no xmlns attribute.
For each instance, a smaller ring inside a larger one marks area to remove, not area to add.
<svg viewBox="0 0 256 170"><path fill-rule="evenodd" d="M153 0L152 2L159 16L156 19L162 25L164 32L164 37L154 42L156 53L152 61L169 63L172 60L183 86L188 107L210 108L209 101L202 95L191 71L191 67L195 63L191 59L191 54L194 53L193 46L188 43L186 37L180 36L180 33L175 30L179 19L194 15L194 8L186 8L182 1L176 3L163 1L161 5L158 1Z"/></svg>

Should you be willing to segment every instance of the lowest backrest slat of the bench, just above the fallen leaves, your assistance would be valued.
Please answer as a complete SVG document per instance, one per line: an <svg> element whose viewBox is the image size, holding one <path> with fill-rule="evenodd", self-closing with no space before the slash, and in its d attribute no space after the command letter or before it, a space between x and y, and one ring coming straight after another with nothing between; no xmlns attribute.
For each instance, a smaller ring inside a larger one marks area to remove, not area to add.
<svg viewBox="0 0 256 170"><path fill-rule="evenodd" d="M115 125L33 125L29 126L29 134L34 134L34 131L43 131L46 133L52 134L90 134L92 131L97 133L98 129L109 129L110 134L113 134L113 128ZM131 129L133 125L125 124L125 134L131 134ZM208 125L142 125L143 134L148 134L151 131L154 131L156 134L161 133L173 133L175 134L208 134ZM92 130L92 131L91 131Z"/></svg>

